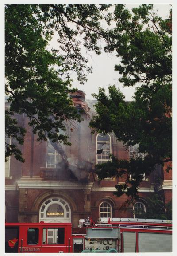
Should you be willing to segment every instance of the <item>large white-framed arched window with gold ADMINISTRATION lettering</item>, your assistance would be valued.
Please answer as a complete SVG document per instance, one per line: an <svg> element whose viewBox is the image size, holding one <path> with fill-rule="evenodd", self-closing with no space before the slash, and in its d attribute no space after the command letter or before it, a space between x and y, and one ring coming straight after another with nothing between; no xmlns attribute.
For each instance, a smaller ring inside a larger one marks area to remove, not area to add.
<svg viewBox="0 0 177 256"><path fill-rule="evenodd" d="M43 202L39 211L39 221L70 222L71 209L62 198L50 198Z"/></svg>

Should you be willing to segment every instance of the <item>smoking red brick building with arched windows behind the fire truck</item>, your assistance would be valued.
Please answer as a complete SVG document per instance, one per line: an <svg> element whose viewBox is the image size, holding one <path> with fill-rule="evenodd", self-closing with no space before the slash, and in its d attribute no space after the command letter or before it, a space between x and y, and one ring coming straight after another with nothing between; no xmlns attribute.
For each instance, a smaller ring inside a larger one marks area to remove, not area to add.
<svg viewBox="0 0 177 256"><path fill-rule="evenodd" d="M100 181L93 173L94 165L109 160L112 153L119 159L129 159L136 148L125 151L122 142L113 134L91 134L89 121L94 111L94 100L85 100L85 93L73 95L74 105L84 110L81 123L68 122L66 134L71 146L52 145L50 141L37 142L28 126L25 114L16 115L19 124L27 129L21 150L25 162L11 157L5 165L5 217L8 222L72 222L77 227L79 219L99 217L139 217L137 207L146 210L146 197L154 192L155 177L160 177L156 187L165 203L172 198L172 173L157 168L145 177L139 187L139 201L119 209L127 197L113 195L117 180ZM103 149L96 155L96 150ZM60 153L59 153L60 152ZM138 154L138 153L137 153ZM68 165L66 165L66 162ZM119 180L124 182L123 179Z"/></svg>

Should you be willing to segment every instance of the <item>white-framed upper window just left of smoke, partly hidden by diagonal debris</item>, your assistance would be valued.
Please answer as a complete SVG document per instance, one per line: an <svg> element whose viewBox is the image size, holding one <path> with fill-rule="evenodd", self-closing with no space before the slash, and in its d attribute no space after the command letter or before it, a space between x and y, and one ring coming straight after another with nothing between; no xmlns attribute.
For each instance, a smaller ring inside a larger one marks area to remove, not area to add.
<svg viewBox="0 0 177 256"><path fill-rule="evenodd" d="M50 140L47 140L47 168L58 168L58 164L62 161L61 155L54 149Z"/></svg>

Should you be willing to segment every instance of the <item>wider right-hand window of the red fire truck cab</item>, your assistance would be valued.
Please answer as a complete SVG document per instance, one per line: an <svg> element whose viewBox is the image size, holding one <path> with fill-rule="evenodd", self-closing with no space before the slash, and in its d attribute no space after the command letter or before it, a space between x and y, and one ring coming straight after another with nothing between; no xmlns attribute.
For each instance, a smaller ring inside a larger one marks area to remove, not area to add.
<svg viewBox="0 0 177 256"><path fill-rule="evenodd" d="M65 228L43 228L43 244L64 244Z"/></svg>

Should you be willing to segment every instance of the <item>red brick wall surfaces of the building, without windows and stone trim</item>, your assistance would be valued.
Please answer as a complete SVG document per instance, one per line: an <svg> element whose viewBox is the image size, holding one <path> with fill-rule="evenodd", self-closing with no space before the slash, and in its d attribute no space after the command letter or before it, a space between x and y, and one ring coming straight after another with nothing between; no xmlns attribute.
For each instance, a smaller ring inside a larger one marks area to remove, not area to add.
<svg viewBox="0 0 177 256"><path fill-rule="evenodd" d="M85 111L88 110L86 106L86 102L84 102L85 95L81 94L82 99L81 103L84 104ZM75 102L78 103L79 99L76 98ZM90 118L86 114L82 114L82 118L84 121L81 124L77 124L77 122L68 123L67 134L69 135L69 141L72 143L72 146L65 146L65 152L68 157L78 158L80 161L89 161L92 162L93 167L96 164L96 134L91 135L91 129L89 128ZM46 169L46 142L37 142L37 135L32 133L31 127L28 126L28 119L23 116L18 116L19 124L23 125L27 129L27 134L25 136L24 145L21 148L23 152L23 157L25 158L25 163L20 163L15 160L15 158L11 158L11 169L10 175L12 179L6 179L6 185L16 185L16 181L20 179L21 176L40 176L40 171ZM116 139L111 134L112 138L112 153L118 157L119 159L129 159L128 150L125 151L125 147L122 142L116 142ZM162 171L162 180L171 180L172 179L172 171L167 173L165 171L166 164ZM52 170L52 169L50 169ZM95 175L96 178L96 175ZM154 174L150 175L148 181L142 181L140 187L153 188L154 182ZM74 180L70 177L69 172L66 172L64 169L60 170L58 175L58 182L72 181ZM50 183L56 180L46 180L46 182ZM119 182L124 182L125 177L119 178ZM31 179L30 182L33 182ZM93 182L94 187L115 187L117 184L117 179L113 179L112 181L104 180L104 181L94 181L92 173L89 174L89 182ZM81 185L83 183L81 182ZM85 183L87 185L87 183ZM105 189L106 190L106 189ZM38 211L42 201L38 203L38 207L36 206L36 212L32 212L34 209L34 205L36 199L41 197L43 193L50 191L50 197L54 195L63 195L72 198L73 204L76 205L76 209L72 209L72 222L75 226L77 226L78 219L85 218L88 215L91 215L93 220L96 221L99 218L99 205L101 201L107 200L112 204L112 217L133 217L132 205L130 205L127 209L120 209L121 205L127 200L127 197L123 195L118 198L113 195L110 191L92 191L89 194L86 189L19 189L19 191L7 191L6 199L8 205L8 221L17 221L18 220L18 210L19 208L19 219L21 221L33 221L38 218ZM57 191L57 192L56 192ZM171 190L163 191L165 203L168 203L172 198ZM48 195L49 196L49 195ZM150 196L150 193L139 193L139 196L143 199L147 196ZM42 200L45 200L43 198ZM69 203L69 201L68 201ZM13 208L13 204L15 205ZM89 209L89 205L91 204L91 209ZM72 204L71 204L72 208ZM35 216L35 217L34 217Z"/></svg>

